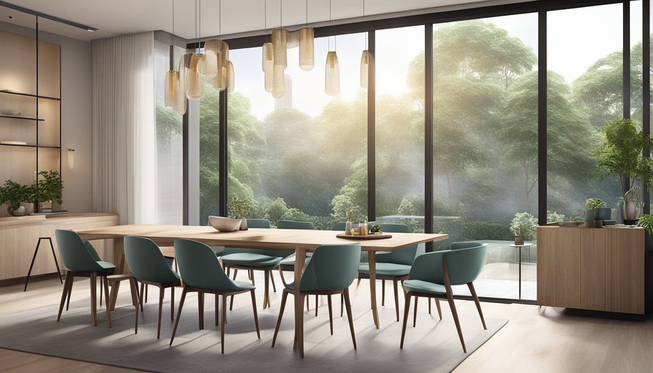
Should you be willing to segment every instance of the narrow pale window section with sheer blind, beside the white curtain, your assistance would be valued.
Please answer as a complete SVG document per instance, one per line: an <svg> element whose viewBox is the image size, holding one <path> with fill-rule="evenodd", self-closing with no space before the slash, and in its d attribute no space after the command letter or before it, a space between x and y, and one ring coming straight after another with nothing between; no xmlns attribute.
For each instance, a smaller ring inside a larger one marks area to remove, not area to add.
<svg viewBox="0 0 653 373"><path fill-rule="evenodd" d="M174 60L184 53L175 47ZM156 105L155 223L183 224L182 116L165 107L165 73L170 70L170 46L154 41L154 100Z"/></svg>

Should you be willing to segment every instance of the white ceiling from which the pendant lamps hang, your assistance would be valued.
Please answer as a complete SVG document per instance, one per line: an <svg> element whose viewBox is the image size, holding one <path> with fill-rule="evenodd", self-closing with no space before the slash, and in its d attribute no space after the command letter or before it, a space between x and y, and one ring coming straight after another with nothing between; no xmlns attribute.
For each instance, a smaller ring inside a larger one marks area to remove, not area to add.
<svg viewBox="0 0 653 373"><path fill-rule="evenodd" d="M365 15L386 18L379 14L396 12L426 13L447 8L478 7L524 0L365 0ZM104 37L164 30L172 33L172 0L9 0L21 7L38 10L99 29L90 32L50 20L39 20L39 29L75 39L90 41ZM318 24L332 20L358 18L363 14L363 0L204 0L197 1L200 37L212 37L278 27L280 5L283 5L283 25ZM220 22L220 3L222 22ZM473 3L473 4L471 4ZM264 7L267 6L267 11ZM434 9L436 7L444 7ZM174 34L183 39L195 39L195 0L174 0ZM267 14L267 15L266 15ZM402 14L402 15L404 15ZM11 18L9 18L11 17ZM366 18L369 19L369 18ZM0 21L35 27L35 17L16 10L0 7ZM220 25L222 23L222 25Z"/></svg>

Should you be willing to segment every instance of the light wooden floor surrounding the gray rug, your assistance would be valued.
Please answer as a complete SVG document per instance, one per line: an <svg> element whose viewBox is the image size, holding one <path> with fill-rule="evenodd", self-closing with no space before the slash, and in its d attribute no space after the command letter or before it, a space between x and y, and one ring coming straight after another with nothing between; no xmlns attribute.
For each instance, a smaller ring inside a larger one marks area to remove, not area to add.
<svg viewBox="0 0 653 373"><path fill-rule="evenodd" d="M278 274L275 276L277 284L281 284ZM240 278L240 280L246 279L246 275ZM259 283L258 277L256 280ZM263 284L263 278L260 281L259 284ZM88 299L89 290L86 284L88 280L75 283L71 300ZM380 284L377 286L377 289L379 288ZM61 289L62 285L56 280L31 282L27 293L23 292L23 285L0 287L0 314L58 304ZM127 287L122 287L121 297L129 297L127 291L129 291ZM369 287L363 284L360 287L353 285L351 291L368 292ZM123 292L125 294L122 294ZM277 294L272 297L273 303L279 302ZM150 295L151 300L155 301L154 298L154 295ZM473 302L465 300L456 300L456 306L459 310L474 308ZM651 372L653 370L653 321L617 321L569 316L560 308L539 308L524 304L483 303L482 307L486 317L503 317L510 321L485 345L472 353L454 372ZM53 341L53 343L61 342ZM0 349L0 371L7 373L137 372L7 349Z"/></svg>

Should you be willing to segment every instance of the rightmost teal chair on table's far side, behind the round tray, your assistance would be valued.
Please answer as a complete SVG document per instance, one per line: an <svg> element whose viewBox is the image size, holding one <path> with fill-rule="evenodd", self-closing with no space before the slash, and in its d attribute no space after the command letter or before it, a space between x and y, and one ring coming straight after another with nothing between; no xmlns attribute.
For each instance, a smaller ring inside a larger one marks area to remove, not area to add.
<svg viewBox="0 0 653 373"><path fill-rule="evenodd" d="M382 232L412 233L411 229L405 224L380 223L379 225L381 225ZM424 251L424 244L417 244L393 251L379 251L376 253L376 278L377 280L381 280L381 306L385 306L385 280L392 280L397 321L399 321L399 292L397 282L407 280L415 257L424 253ZM372 252L370 254L374 255ZM360 263L358 273L359 283L360 278L370 278L370 265L368 263Z"/></svg>

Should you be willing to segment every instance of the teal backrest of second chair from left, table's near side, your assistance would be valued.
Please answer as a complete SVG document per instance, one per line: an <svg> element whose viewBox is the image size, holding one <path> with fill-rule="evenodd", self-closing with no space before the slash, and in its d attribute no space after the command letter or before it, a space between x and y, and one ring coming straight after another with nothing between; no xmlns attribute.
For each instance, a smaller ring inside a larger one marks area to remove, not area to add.
<svg viewBox="0 0 653 373"><path fill-rule="evenodd" d="M150 238L125 236L125 257L137 280L173 282L178 274L168 266L161 249Z"/></svg>

